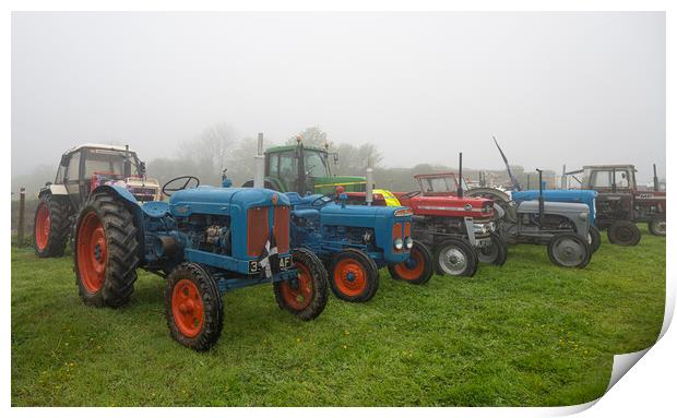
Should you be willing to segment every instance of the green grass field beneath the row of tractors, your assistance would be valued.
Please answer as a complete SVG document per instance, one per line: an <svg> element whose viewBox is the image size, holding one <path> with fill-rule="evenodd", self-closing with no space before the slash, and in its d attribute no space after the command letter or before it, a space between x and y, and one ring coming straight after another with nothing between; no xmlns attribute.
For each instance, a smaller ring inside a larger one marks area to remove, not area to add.
<svg viewBox="0 0 677 418"><path fill-rule="evenodd" d="M219 343L175 343L163 279L131 303L85 307L72 259L12 250L12 405L571 405L599 397L613 355L653 344L665 239L603 246L586 270L545 247L511 247L474 278L412 286L381 273L372 301L332 296L316 321L281 311L270 286L225 296Z"/></svg>

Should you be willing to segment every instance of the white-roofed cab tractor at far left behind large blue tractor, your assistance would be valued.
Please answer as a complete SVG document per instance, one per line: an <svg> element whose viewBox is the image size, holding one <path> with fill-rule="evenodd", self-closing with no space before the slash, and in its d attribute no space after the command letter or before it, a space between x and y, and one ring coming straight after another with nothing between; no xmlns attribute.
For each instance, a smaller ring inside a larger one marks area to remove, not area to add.
<svg viewBox="0 0 677 418"><path fill-rule="evenodd" d="M33 247L38 256L61 256L75 216L102 184L126 188L138 202L161 199L157 180L145 177L145 164L128 146L83 144L61 156L57 177L40 189Z"/></svg>

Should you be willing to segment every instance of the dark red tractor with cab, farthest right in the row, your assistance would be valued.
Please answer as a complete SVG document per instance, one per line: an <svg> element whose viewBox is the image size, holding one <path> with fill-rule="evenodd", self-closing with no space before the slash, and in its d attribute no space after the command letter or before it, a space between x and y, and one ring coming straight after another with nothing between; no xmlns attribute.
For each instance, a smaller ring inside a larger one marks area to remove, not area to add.
<svg viewBox="0 0 677 418"><path fill-rule="evenodd" d="M640 191L634 178L634 166L584 166L567 172L581 188L597 192L596 225L607 228L609 242L637 246L641 232L636 224L646 223L651 234L665 237L666 193L658 188L654 165L654 190ZM583 174L583 178L575 177Z"/></svg>

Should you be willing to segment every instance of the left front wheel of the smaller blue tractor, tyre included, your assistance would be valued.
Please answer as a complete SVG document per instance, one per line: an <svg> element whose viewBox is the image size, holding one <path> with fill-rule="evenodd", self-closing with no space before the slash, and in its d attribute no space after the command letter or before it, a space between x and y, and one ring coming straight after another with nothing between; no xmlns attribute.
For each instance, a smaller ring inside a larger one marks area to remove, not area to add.
<svg viewBox="0 0 677 418"><path fill-rule="evenodd" d="M330 285L339 299L366 302L379 288L379 268L363 251L346 249L334 255Z"/></svg>

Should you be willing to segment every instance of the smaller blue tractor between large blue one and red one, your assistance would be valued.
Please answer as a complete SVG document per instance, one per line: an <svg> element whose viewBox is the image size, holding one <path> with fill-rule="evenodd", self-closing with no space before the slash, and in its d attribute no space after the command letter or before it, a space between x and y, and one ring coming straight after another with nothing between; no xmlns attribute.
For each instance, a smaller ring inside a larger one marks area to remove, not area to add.
<svg viewBox="0 0 677 418"><path fill-rule="evenodd" d="M316 253L340 299L370 300L379 287L379 268L411 284L427 283L432 255L412 238L412 210L402 206L346 205L331 196L286 193L292 210L292 247Z"/></svg>

